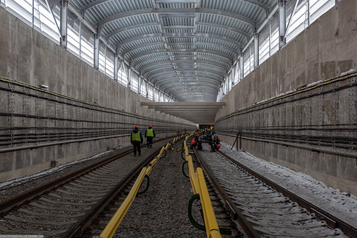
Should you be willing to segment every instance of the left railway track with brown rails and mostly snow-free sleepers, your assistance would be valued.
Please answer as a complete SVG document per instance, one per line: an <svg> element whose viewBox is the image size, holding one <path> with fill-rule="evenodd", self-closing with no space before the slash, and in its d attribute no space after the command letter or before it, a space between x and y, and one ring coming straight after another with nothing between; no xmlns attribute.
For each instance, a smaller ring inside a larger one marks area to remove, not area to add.
<svg viewBox="0 0 357 238"><path fill-rule="evenodd" d="M172 138L156 140L151 149L143 146L140 157L126 150L2 201L0 233L81 235Z"/></svg>

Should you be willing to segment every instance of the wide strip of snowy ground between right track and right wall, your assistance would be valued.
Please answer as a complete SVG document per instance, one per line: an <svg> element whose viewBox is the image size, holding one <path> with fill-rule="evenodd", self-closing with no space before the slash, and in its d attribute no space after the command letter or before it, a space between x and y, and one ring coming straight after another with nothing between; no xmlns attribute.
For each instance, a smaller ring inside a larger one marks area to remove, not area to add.
<svg viewBox="0 0 357 238"><path fill-rule="evenodd" d="M221 151L253 171L289 189L306 201L357 227L357 197L340 189L327 187L310 175L240 152L221 142Z"/></svg>

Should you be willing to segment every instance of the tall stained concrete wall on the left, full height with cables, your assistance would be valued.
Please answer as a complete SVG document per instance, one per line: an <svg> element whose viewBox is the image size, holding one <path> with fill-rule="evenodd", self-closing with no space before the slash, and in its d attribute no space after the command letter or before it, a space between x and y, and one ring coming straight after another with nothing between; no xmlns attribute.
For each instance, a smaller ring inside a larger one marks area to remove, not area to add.
<svg viewBox="0 0 357 238"><path fill-rule="evenodd" d="M7 113L0 116L0 139L3 139L0 144L13 142L12 145L0 146L0 151L56 142L52 136L68 133L68 138L60 138L64 142L62 145L0 153L0 181L48 168L53 159L64 163L130 142L126 136L66 143L71 139L120 136L129 133L134 125L141 125L141 128L153 125L155 130L164 132L158 134L159 137L176 135L176 129L196 127L196 124L181 118L140 106L141 101L150 100L95 70L2 7L0 32L0 76L36 86L48 85L49 90L62 95L90 103L96 101L106 107L138 114L129 115L29 87L0 82L0 113ZM9 92L8 89L15 91ZM23 114L32 117L21 116ZM153 119L148 120L140 115ZM48 135L47 141L43 139L44 134ZM36 139L36 136L41 139Z"/></svg>

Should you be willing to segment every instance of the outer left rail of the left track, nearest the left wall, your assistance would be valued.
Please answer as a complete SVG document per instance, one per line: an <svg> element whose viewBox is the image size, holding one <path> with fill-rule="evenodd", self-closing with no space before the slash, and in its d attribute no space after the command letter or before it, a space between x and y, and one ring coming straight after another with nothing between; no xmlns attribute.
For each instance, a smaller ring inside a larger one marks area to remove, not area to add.
<svg viewBox="0 0 357 238"><path fill-rule="evenodd" d="M155 143L156 142L160 142L162 140L166 140L168 138L172 138L172 137L175 137L175 136L166 137L166 138L162 138L162 139L156 140ZM145 146L145 145L143 145L143 146ZM96 167L105 165L106 163L109 163L112 160L115 160L115 159L117 159L119 157L125 156L127 153L130 153L131 151L132 151L132 149L120 152L120 153L118 153L116 155L113 155L113 156L110 156L108 158L102 159L102 160L97 161L97 162L95 162L93 164L90 164L90 165L88 165L86 167L77 169L76 171L73 171L73 172L71 172L69 174L65 174L65 175L63 175L63 176L61 176L59 178L56 178L56 179L52 180L52 181L49 181L49 182L44 183L44 184L41 184L40 186L34 187L34 188L30 189L30 190L27 190L25 192L17 194L14 197L5 199L4 201L0 202L1 216L5 215L4 213L6 213L7 211L11 210L12 207L19 206L20 204L22 204L23 202L25 202L27 200L31 200L34 197L36 197L38 195L41 195L42 193L44 193L46 191L49 191L50 189L52 189L54 187L57 187L62 183L70 181L72 178L75 178L75 177L80 176L80 175L82 175L82 174L84 174L86 172L89 172L89 171L91 171L92 169L94 169Z"/></svg>

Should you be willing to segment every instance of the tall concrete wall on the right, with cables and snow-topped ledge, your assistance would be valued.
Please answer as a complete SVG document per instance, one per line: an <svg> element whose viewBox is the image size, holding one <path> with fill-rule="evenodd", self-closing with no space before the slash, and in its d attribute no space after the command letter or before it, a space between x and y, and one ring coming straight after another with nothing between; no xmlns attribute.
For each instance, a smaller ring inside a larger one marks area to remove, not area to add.
<svg viewBox="0 0 357 238"><path fill-rule="evenodd" d="M318 153L294 146L254 141L254 138L268 136L273 136L274 140L274 136L284 135L298 135L301 143L296 145L304 145L303 135L309 138L351 137L352 139L346 140L353 141L356 138L355 85L294 102L288 100L356 83L356 77L233 113L232 117L227 116L228 113L249 107L255 102L294 90L298 85L308 85L357 69L356 9L357 1L342 0L232 88L221 100L226 101L227 106L216 116L216 121L223 117L216 122L216 131L221 133L223 141L232 144L235 138L223 134L235 134L237 128L240 128L246 137L252 137L242 140L244 150L267 161L310 174L327 186L357 195L355 156ZM283 102L284 100L287 101ZM280 105L273 105L281 102L283 103ZM331 139L327 140L331 142ZM318 144L316 141L315 143ZM343 146L346 143L337 145ZM320 148L356 152L331 146L333 145Z"/></svg>

